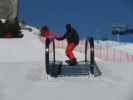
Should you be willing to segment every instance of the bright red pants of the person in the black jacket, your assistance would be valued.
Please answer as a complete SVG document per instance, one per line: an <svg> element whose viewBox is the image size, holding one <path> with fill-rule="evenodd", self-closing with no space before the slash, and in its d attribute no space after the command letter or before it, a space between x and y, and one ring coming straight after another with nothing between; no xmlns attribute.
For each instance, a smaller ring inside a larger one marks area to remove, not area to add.
<svg viewBox="0 0 133 100"><path fill-rule="evenodd" d="M67 45L67 47L66 47L65 53L66 53L67 57L68 57L70 60L76 59L75 56L74 56L74 54L73 54L73 50L74 50L74 48L75 48L76 46L77 46L77 45L74 44L74 43L69 43L69 44Z"/></svg>

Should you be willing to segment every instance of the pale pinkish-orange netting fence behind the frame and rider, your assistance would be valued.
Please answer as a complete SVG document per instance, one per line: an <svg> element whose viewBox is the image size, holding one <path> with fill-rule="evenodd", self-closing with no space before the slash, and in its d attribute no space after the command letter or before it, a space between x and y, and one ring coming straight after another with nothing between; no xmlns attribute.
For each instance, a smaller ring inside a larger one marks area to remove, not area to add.
<svg viewBox="0 0 133 100"><path fill-rule="evenodd" d="M106 43L95 41L95 57L104 61L113 62L133 62L133 55L130 55L124 50L117 49L115 47L121 45L120 43ZM55 41L56 48L65 48L67 46L66 41ZM88 52L89 50L88 46ZM81 40L75 51L84 53L85 40Z"/></svg>

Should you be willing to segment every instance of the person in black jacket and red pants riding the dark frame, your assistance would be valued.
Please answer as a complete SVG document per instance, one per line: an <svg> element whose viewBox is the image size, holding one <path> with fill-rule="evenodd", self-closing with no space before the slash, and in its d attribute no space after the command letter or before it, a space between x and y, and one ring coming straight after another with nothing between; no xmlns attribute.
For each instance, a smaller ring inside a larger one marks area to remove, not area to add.
<svg viewBox="0 0 133 100"><path fill-rule="evenodd" d="M69 60L66 60L66 63L69 65L76 65L77 59L73 54L73 50L76 48L76 46L79 43L79 35L76 32L76 30L72 27L71 24L66 24L66 32L63 36L57 37L57 40L63 40L67 39L67 47L66 47L66 56L69 58Z"/></svg>

